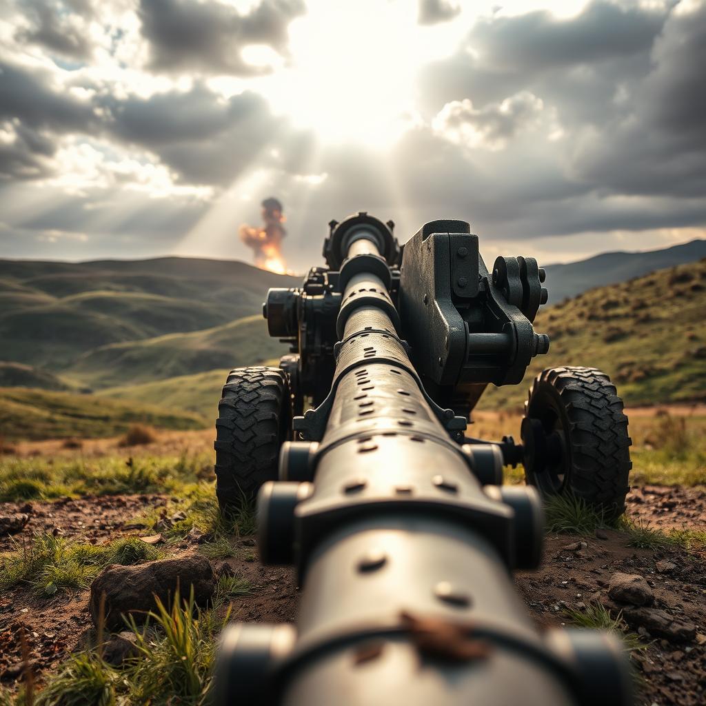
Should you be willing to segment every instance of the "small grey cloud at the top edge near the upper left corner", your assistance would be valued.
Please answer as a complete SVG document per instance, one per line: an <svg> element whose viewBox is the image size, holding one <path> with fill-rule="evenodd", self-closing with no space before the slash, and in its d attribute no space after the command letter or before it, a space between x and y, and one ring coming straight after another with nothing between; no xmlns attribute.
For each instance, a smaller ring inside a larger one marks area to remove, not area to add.
<svg viewBox="0 0 706 706"><path fill-rule="evenodd" d="M71 23L74 10L84 16L90 13L90 5L85 1L52 2L40 0L23 3L25 15L32 25L28 30L18 32L20 42L41 44L51 52L58 52L72 59L85 60L90 57L92 47L83 28Z"/></svg>

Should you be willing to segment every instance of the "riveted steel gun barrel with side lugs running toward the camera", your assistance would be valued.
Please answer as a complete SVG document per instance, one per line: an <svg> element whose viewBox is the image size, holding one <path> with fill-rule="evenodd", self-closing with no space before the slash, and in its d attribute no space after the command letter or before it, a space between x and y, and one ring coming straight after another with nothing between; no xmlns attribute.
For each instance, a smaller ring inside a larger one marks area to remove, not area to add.
<svg viewBox="0 0 706 706"><path fill-rule="evenodd" d="M375 256L374 242L361 242L357 251ZM256 662L250 679L262 688L249 682L244 691L260 700L249 703L629 704L626 660L614 645L549 640L534 628L509 570L539 560L537 493L484 486L495 451L476 460L485 478L474 475L472 450L450 439L400 353L388 292L371 291L381 285L359 273L343 293L335 399L321 442L306 452L313 485L286 484L280 498L268 484L260 498L263 554L292 556L299 569L296 640L287 654L280 641L267 660L261 626L230 628L216 682L233 688L217 688L218 703L241 702L232 671L247 679L239 665ZM346 309L357 297L366 301ZM268 498L276 502L265 507ZM277 508L288 517L275 521Z"/></svg>

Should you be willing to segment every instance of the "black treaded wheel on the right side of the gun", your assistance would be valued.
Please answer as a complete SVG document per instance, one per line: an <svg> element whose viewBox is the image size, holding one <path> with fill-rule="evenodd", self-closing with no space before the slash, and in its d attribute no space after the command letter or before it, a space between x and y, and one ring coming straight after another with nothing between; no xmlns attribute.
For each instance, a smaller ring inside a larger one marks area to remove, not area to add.
<svg viewBox="0 0 706 706"><path fill-rule="evenodd" d="M573 495L606 517L621 515L630 487L623 400L595 368L550 368L537 376L522 419L525 478L544 496Z"/></svg>

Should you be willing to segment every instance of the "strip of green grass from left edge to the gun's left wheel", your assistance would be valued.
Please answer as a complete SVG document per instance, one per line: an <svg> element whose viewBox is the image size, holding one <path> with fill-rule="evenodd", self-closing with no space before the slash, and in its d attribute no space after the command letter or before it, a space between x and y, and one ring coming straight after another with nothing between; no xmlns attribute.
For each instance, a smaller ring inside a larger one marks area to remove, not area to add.
<svg viewBox="0 0 706 706"><path fill-rule="evenodd" d="M184 493L213 477L213 454L133 458L0 457L0 502L119 493ZM213 496L213 490L210 493Z"/></svg>

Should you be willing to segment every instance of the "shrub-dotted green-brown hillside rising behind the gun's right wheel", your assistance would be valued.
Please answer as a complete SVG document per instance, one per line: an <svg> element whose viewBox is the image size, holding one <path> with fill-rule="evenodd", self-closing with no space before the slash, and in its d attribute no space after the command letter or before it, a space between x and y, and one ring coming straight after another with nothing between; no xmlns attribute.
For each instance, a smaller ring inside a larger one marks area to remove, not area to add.
<svg viewBox="0 0 706 706"><path fill-rule="evenodd" d="M534 328L549 333L549 354L534 359L522 385L486 390L479 409L520 407L534 376L561 365L604 370L628 405L703 402L705 315L706 259L544 307Z"/></svg>

